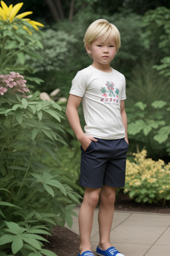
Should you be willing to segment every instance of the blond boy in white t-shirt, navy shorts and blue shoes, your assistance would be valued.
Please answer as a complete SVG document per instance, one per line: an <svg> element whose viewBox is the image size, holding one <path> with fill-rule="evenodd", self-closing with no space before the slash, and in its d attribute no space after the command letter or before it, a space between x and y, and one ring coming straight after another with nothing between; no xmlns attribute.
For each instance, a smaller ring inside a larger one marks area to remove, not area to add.
<svg viewBox="0 0 170 256"><path fill-rule="evenodd" d="M118 29L105 19L94 21L84 36L84 46L92 65L78 71L72 80L66 116L81 143L80 185L84 198L78 216L80 253L94 256L90 245L93 214L100 197L98 223L100 241L97 255L124 256L110 244L116 188L124 187L128 151L124 75L110 62L120 48ZM84 131L78 107L82 101Z"/></svg>

